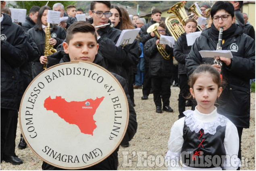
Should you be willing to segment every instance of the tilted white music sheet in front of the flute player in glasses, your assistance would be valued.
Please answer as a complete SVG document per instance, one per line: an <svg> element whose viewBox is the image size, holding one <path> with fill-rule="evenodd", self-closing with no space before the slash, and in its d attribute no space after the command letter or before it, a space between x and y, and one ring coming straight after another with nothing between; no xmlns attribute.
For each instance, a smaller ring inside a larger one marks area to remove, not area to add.
<svg viewBox="0 0 256 171"><path fill-rule="evenodd" d="M121 35L119 36L119 39L117 40L116 46L118 47L124 43L127 43L128 41L129 41L128 44L133 43L139 31L140 31L140 28L123 30Z"/></svg>

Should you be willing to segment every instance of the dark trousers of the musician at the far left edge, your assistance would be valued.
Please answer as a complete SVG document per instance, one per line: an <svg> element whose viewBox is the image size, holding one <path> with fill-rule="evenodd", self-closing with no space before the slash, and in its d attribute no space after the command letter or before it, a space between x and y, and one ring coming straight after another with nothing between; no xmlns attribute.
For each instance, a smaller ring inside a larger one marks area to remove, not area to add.
<svg viewBox="0 0 256 171"><path fill-rule="evenodd" d="M6 116L3 116L3 119L2 119L2 115L6 115L7 118ZM6 122L6 123L2 124L2 122ZM17 123L18 123L17 110L8 110L8 109L1 108L1 161L4 155L15 156L15 138L16 138ZM3 141L2 141L2 137L4 137Z"/></svg>

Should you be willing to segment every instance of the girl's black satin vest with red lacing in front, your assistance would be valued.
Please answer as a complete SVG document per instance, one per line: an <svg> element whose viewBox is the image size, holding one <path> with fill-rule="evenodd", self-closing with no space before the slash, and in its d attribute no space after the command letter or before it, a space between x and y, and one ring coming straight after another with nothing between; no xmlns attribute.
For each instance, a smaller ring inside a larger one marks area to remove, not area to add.
<svg viewBox="0 0 256 171"><path fill-rule="evenodd" d="M184 123L184 143L181 149L183 164L195 168L221 167L226 155L223 144L225 130L226 126L218 126L214 135L204 134L203 129L196 133L191 132Z"/></svg>

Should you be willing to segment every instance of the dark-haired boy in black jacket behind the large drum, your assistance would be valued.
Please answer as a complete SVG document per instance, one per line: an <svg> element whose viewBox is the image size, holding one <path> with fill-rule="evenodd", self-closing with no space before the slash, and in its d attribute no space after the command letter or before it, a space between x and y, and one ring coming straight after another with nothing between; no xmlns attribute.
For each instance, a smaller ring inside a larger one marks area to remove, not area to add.
<svg viewBox="0 0 256 171"><path fill-rule="evenodd" d="M104 68L107 66L107 61L105 61L104 58L98 54L99 44L97 43L97 36L94 27L90 23L85 21L78 21L73 23L67 30L67 41L63 43L63 47L64 51L58 51L48 56L47 67L58 63L70 62L70 60L85 60L88 62L93 62L94 64L98 64ZM117 74L112 74L122 85L129 104L129 124L125 136L122 140L122 142L127 142L133 138L137 130L136 113L133 106L131 105L131 99L128 94L128 88L125 79ZM119 147L102 162L85 169L117 170L118 150ZM60 168L54 167L45 162L43 162L42 169L61 170Z"/></svg>

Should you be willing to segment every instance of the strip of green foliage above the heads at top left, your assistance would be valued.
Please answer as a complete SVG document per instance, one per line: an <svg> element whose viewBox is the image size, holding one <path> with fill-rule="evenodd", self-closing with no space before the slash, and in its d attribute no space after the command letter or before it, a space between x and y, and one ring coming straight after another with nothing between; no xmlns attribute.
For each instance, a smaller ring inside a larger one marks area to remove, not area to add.
<svg viewBox="0 0 256 171"><path fill-rule="evenodd" d="M48 1L16 1L16 3L17 3L16 8L27 9L27 14L29 14L29 10L32 6L36 5L36 6L42 7L42 6L45 6L47 4L47 2ZM77 4L77 1L49 1L47 6L52 8L52 6L58 2L60 2L64 5L65 10L68 5L76 6L76 4Z"/></svg>

